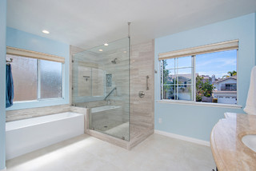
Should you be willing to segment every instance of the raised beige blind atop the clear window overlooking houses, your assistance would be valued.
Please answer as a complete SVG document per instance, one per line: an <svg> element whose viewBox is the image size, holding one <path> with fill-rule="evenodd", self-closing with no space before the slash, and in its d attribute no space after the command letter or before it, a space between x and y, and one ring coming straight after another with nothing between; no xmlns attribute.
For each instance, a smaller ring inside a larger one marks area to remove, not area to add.
<svg viewBox="0 0 256 171"><path fill-rule="evenodd" d="M162 54L158 54L158 60L165 60L170 58L186 57L197 54L209 54L223 50L238 50L238 40L219 42L206 46L192 47L184 50L174 50Z"/></svg>

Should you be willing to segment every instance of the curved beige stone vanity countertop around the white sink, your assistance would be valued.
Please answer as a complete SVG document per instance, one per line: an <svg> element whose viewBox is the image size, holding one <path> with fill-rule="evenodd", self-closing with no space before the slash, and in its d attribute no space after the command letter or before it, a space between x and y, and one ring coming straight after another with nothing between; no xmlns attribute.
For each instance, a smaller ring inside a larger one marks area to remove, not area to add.
<svg viewBox="0 0 256 171"><path fill-rule="evenodd" d="M210 147L219 171L256 171L256 153L242 137L256 134L256 116L225 113L210 134Z"/></svg>

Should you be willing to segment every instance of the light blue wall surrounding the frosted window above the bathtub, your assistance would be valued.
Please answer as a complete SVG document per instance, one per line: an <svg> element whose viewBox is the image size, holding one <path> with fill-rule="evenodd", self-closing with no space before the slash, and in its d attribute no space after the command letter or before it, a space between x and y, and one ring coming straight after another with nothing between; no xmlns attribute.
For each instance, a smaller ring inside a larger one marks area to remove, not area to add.
<svg viewBox="0 0 256 171"><path fill-rule="evenodd" d="M50 35L50 34L49 34ZM68 104L70 100L69 82L70 82L70 46L42 38L40 36L29 34L21 30L7 27L6 30L6 46L17 47L24 50L33 50L45 54L54 54L65 58L65 75L64 75L64 99L57 100L44 100L44 101L31 101L26 103L15 103L8 108L12 109L26 109L33 107L42 107L47 105L62 105Z"/></svg>

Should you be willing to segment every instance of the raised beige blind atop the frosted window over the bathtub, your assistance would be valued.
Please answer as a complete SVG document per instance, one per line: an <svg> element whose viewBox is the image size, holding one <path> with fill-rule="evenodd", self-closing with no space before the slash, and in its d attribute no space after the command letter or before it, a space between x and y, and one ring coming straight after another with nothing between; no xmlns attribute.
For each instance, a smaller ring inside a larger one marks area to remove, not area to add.
<svg viewBox="0 0 256 171"><path fill-rule="evenodd" d="M22 50L15 47L6 47L6 54L13 54L17 56L27 57L27 58L36 58L36 59L42 59L52 62L62 62L65 63L65 58L59 57L52 54L44 54L40 52L35 52L31 50Z"/></svg>

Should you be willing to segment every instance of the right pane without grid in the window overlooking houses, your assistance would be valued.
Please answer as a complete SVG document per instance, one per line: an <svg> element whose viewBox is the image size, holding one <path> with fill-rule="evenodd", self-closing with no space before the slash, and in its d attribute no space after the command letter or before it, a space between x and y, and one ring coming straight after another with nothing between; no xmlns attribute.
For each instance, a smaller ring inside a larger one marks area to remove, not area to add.
<svg viewBox="0 0 256 171"><path fill-rule="evenodd" d="M197 55L196 64L197 101L237 104L237 50Z"/></svg>

